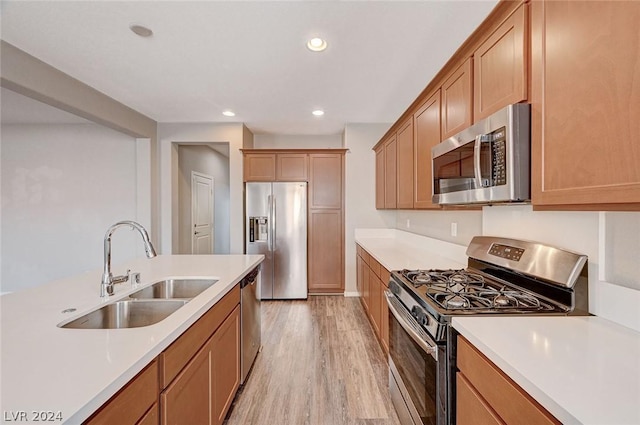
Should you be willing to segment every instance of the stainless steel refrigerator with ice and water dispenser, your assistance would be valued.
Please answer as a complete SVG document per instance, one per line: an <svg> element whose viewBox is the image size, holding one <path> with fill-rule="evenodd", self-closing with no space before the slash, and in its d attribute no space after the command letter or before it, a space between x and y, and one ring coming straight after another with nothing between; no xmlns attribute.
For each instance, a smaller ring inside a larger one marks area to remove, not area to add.
<svg viewBox="0 0 640 425"><path fill-rule="evenodd" d="M264 254L260 297L307 298L307 183L246 183L247 254Z"/></svg>

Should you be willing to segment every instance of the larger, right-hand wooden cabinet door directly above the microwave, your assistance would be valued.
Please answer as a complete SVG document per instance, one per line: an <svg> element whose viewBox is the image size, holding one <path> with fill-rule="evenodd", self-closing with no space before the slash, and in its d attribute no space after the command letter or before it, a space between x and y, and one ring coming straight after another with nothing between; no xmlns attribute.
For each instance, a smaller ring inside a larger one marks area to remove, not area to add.
<svg viewBox="0 0 640 425"><path fill-rule="evenodd" d="M473 54L473 119L527 100L527 4L522 4Z"/></svg>

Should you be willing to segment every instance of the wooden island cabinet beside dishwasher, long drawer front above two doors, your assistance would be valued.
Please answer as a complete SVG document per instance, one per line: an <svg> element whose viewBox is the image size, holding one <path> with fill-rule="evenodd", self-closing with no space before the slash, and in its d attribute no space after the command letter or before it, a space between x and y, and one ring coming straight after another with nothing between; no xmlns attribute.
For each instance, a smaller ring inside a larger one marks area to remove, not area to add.
<svg viewBox="0 0 640 425"><path fill-rule="evenodd" d="M160 423L222 424L240 385L240 289L159 356Z"/></svg>

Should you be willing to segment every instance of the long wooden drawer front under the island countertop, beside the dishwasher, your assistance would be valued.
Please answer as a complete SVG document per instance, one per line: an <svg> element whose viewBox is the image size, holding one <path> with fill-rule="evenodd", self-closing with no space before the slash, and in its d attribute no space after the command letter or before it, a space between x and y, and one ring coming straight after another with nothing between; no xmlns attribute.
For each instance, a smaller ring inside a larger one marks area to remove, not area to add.
<svg viewBox="0 0 640 425"><path fill-rule="evenodd" d="M215 306L191 325L182 336L160 356L160 384L162 388L180 373L224 319L240 304L240 286L236 285Z"/></svg>

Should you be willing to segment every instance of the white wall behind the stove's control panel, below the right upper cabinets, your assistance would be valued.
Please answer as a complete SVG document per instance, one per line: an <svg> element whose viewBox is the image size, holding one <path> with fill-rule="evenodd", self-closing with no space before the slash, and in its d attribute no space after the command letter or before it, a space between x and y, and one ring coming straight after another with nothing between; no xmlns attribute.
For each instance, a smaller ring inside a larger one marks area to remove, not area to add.
<svg viewBox="0 0 640 425"><path fill-rule="evenodd" d="M483 234L528 239L589 256L589 312L640 331L640 213L484 207Z"/></svg>

